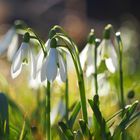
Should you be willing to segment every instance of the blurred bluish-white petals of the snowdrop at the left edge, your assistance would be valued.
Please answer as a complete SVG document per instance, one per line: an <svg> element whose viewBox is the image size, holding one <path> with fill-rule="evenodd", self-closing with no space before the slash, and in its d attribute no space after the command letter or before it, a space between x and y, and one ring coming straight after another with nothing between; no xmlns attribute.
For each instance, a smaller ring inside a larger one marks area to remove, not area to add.
<svg viewBox="0 0 140 140"><path fill-rule="evenodd" d="M4 37L0 40L0 55L6 52L9 61L13 59L18 49L18 35L14 27L8 30Z"/></svg>

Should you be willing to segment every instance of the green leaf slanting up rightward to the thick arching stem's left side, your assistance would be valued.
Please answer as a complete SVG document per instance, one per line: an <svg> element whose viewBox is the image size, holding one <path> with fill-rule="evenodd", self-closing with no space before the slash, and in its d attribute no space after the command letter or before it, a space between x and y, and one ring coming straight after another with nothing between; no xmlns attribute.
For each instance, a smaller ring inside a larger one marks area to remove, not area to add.
<svg viewBox="0 0 140 140"><path fill-rule="evenodd" d="M81 109L81 103L78 102L78 103L76 104L75 108L73 109L73 112L72 112L72 114L71 114L71 116L70 116L70 119L69 119L69 121L68 121L68 125L69 125L70 128L73 127L73 124L74 124L74 122L75 122L75 120L76 120L76 117L77 117L77 115L78 115L80 109Z"/></svg>

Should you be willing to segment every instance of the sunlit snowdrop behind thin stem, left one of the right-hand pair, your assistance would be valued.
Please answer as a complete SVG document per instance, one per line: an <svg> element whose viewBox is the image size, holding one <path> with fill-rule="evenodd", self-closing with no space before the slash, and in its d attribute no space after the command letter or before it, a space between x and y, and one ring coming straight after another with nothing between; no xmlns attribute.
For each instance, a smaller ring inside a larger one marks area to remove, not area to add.
<svg viewBox="0 0 140 140"><path fill-rule="evenodd" d="M86 76L90 76L95 72L95 37L92 29L89 34L89 40L85 48L80 53L80 62L82 69L86 71ZM99 55L97 55L97 67L100 64Z"/></svg>

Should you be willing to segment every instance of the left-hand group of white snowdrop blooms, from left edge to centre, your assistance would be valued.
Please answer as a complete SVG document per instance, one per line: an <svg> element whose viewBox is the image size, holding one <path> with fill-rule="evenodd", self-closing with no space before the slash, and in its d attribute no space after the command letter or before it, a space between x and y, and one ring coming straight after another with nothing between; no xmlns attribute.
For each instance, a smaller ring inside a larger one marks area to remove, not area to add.
<svg viewBox="0 0 140 140"><path fill-rule="evenodd" d="M30 70L30 84L39 86L47 80L53 82L57 76L61 81L66 81L66 60L64 60L64 51L57 47L56 39L49 38L44 45L46 53L40 49L35 55L33 47L30 46L30 34L24 35L24 40L18 48L17 34L14 28L11 28L0 42L0 54L6 50L8 58L12 60L11 76L16 78L22 71L23 66L28 66Z"/></svg>

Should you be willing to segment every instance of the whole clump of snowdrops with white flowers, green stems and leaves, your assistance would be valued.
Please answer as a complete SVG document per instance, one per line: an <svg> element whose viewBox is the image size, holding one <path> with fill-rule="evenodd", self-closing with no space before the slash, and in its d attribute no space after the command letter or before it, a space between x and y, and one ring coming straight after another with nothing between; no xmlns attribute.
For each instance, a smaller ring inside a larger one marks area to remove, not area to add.
<svg viewBox="0 0 140 140"><path fill-rule="evenodd" d="M23 36L19 48L17 46L18 34ZM116 40L116 43L112 43L112 38ZM49 31L48 40L44 42L32 28L24 22L16 21L0 42L0 54L6 51L8 60L12 63L11 76L13 79L19 76L24 67L28 67L29 79L36 83L37 88L45 87L45 103L41 107L45 110L45 117L42 119L44 119L43 131L46 140L52 139L51 102L53 99L51 88L57 79L65 84L64 117L58 122L61 130L60 139L128 139L126 129L137 120L140 112L136 111L138 101L126 105L124 100L123 43L120 32L114 34L112 25L109 24L104 28L102 40L96 38L94 30L91 29L85 48L79 53L76 43L62 27L53 26ZM68 88L73 88L69 87L69 58L71 58L77 74L80 99L72 112L69 111ZM119 75L118 104L120 110L109 119L105 119L100 109L100 96L108 94L110 90L108 77L115 73ZM88 93L85 88L85 81L88 80L91 81L88 86L92 89L90 99L86 97ZM0 94L0 104L0 138L11 139L12 128L9 125L8 102L2 93ZM88 105L92 110L91 120ZM82 115L77 121L79 112L82 112ZM120 121L112 131L117 117L120 118ZM74 129L74 124L79 124L79 127ZM26 121L18 136L15 137L19 140L34 139L33 133L25 131L25 125ZM28 131L33 130L35 131L35 128L28 128ZM29 138L28 134L32 136Z"/></svg>

